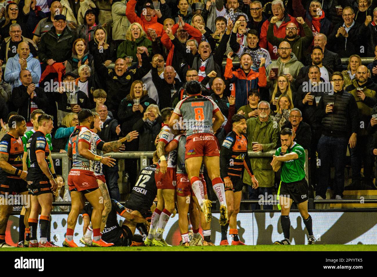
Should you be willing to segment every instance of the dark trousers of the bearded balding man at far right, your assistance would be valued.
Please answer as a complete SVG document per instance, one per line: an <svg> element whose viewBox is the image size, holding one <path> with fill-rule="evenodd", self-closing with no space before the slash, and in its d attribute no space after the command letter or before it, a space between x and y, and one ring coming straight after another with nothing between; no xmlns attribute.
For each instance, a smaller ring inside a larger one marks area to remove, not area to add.
<svg viewBox="0 0 377 277"><path fill-rule="evenodd" d="M357 136L356 147L349 148L351 155L352 182L361 180L361 163L364 162L364 177L366 181L372 181L374 157L369 154L369 136Z"/></svg>

